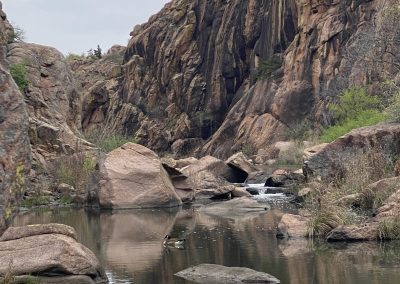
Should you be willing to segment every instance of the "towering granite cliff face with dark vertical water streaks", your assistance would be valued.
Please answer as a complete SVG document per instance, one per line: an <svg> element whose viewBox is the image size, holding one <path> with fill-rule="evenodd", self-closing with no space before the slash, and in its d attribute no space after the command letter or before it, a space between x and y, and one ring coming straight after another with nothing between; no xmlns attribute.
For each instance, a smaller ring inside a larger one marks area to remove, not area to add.
<svg viewBox="0 0 400 284"><path fill-rule="evenodd" d="M343 89L398 71L382 36L395 2L171 1L132 31L106 128L159 152L227 156L326 124Z"/></svg>

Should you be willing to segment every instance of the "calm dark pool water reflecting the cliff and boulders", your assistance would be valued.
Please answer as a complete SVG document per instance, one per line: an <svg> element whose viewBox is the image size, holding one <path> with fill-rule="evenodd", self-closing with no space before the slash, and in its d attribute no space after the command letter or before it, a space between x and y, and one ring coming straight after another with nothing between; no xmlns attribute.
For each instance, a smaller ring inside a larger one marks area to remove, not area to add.
<svg viewBox="0 0 400 284"><path fill-rule="evenodd" d="M281 214L273 209L252 218L226 218L196 208L55 209L21 213L14 225L58 222L73 226L112 283L189 283L173 274L200 263L245 266L291 284L399 283L399 243L277 240L274 228ZM185 237L186 249L164 248L166 234Z"/></svg>

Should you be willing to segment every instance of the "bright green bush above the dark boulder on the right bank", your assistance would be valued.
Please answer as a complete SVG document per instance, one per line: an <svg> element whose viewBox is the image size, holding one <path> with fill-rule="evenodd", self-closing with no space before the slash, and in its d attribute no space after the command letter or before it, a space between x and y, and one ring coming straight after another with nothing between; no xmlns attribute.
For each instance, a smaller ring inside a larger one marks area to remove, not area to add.
<svg viewBox="0 0 400 284"><path fill-rule="evenodd" d="M335 139L349 133L351 130L377 124L385 121L386 114L378 110L365 110L354 118L348 118L340 124L325 129L320 137L322 142L332 142Z"/></svg>

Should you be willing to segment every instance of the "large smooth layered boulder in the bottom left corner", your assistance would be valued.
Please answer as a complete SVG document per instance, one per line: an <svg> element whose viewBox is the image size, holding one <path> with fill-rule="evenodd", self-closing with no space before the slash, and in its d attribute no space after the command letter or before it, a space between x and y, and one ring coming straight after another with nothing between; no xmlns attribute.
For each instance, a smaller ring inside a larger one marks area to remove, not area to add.
<svg viewBox="0 0 400 284"><path fill-rule="evenodd" d="M92 280L83 283L107 283L96 256L73 238L76 233L69 226L15 227L4 235L0 241L1 275L79 276Z"/></svg>

